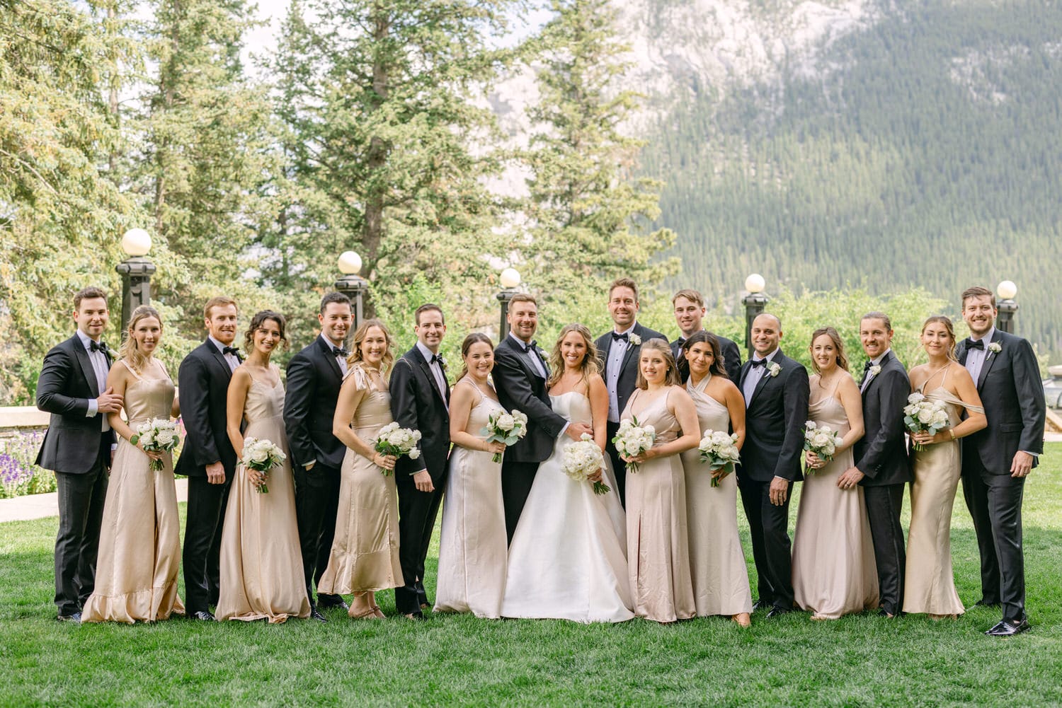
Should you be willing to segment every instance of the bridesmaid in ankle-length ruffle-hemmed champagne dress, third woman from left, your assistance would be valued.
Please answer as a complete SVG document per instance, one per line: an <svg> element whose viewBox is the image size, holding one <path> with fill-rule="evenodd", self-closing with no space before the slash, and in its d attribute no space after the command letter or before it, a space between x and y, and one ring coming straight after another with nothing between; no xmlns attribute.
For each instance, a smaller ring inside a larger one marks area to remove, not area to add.
<svg viewBox="0 0 1062 708"><path fill-rule="evenodd" d="M356 620L383 619L376 591L404 584L398 563L396 457L374 448L380 428L393 420L391 393L383 378L394 361L392 344L391 333L379 320L358 327L332 419L332 434L347 449L336 535L318 591L353 593L347 615Z"/></svg>

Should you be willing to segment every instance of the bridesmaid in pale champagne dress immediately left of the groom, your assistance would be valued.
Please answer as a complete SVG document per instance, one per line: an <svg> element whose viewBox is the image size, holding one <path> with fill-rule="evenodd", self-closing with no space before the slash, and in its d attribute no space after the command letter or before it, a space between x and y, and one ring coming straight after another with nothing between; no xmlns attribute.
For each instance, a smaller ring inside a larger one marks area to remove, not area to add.
<svg viewBox="0 0 1062 708"><path fill-rule="evenodd" d="M446 476L443 529L439 539L436 612L501 617L506 592L506 513L501 501L504 443L487 443L482 430L504 413L491 385L494 345L473 332L461 344L464 370L450 400L450 471Z"/></svg>

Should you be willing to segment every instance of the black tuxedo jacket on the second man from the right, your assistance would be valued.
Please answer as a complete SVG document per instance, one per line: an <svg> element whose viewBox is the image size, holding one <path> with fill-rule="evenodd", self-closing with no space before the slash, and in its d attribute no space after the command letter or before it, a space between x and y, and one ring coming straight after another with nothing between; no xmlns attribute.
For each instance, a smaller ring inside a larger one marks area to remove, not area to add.
<svg viewBox="0 0 1062 708"><path fill-rule="evenodd" d="M868 487L911 481L904 428L904 407L911 395L911 382L895 352L887 353L880 365L881 370L862 392L867 432L853 450L855 466L866 476L860 484ZM859 383L862 385L862 381Z"/></svg>

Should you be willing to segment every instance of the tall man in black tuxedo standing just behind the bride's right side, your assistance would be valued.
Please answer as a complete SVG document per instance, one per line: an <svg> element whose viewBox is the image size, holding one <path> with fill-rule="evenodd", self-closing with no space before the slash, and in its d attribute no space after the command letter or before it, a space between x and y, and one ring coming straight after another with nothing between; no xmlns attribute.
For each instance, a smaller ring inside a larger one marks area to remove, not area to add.
<svg viewBox="0 0 1062 708"><path fill-rule="evenodd" d="M617 278L609 287L609 314L612 315L613 329L599 336L594 343L601 360L601 372L605 386L609 388L609 425L606 431L609 442L605 451L612 459L612 468L616 471L616 494L621 504L627 505L626 463L619 459L612 438L619 430L619 416L627 407L627 399L634 393L638 380L638 356L641 343L646 340L664 340L662 333L643 327L637 322L638 286L631 278Z"/></svg>

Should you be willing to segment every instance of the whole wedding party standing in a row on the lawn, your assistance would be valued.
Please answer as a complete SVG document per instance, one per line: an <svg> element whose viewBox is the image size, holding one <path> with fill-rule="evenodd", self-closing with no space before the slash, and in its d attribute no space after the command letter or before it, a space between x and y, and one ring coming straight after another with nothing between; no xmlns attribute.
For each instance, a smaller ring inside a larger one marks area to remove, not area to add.
<svg viewBox="0 0 1062 708"><path fill-rule="evenodd" d="M106 293L81 291L78 329L48 352L37 386L51 413L37 464L58 482L58 619L327 622L328 608L383 619L376 593L392 588L411 620L429 609L741 626L757 609L767 621L796 609L957 618L949 530L961 480L977 604L1001 614L987 634L1029 628L1022 498L1045 402L1032 347L995 327L990 290L962 293L969 339L956 342L946 316L925 321L928 361L910 372L888 314L864 314L861 375L834 327L793 343L808 347L809 376L783 353L777 316L751 323L742 363L734 342L704 329L700 293L672 303L681 335L669 343L638 322L637 283L619 278L611 331L570 324L547 349L536 299L517 293L509 331L497 343L465 336L450 378L439 306L416 310L416 343L399 356L379 320L348 338L350 301L329 293L320 335L281 377L272 357L288 344L285 316L257 312L237 342L238 305L217 296L175 385L154 356L159 313L136 308L114 355L101 339ZM183 547L174 473L188 478ZM440 510L432 602L425 568Z"/></svg>

